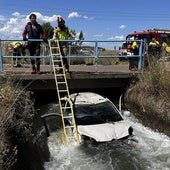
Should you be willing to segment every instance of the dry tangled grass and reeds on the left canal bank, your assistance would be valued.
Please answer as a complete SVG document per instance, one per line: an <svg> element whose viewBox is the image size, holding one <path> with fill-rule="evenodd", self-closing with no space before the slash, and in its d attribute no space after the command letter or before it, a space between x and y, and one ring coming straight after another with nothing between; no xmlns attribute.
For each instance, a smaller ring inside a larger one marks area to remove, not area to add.
<svg viewBox="0 0 170 170"><path fill-rule="evenodd" d="M0 75L0 169L10 169L16 162L18 140L30 139L33 113L29 93Z"/></svg>

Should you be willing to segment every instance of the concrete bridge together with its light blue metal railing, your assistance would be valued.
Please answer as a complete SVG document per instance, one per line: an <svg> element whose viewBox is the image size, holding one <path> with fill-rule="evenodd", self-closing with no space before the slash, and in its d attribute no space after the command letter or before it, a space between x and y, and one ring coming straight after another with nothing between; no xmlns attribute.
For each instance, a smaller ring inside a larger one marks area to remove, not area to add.
<svg viewBox="0 0 170 170"><path fill-rule="evenodd" d="M10 40L12 41L12 40ZM29 41L29 40L28 40ZM32 41L32 40L31 40ZM42 40L35 40L42 41ZM49 40L50 41L50 40ZM71 41L71 40L68 40ZM75 40L71 42L76 42ZM75 45L69 45L69 52L67 58L69 61L72 59L79 60L92 59L93 65L79 64L70 65L70 70L66 74L68 86L70 90L80 90L80 89L100 89L100 88L123 88L129 85L131 79L138 73L129 71L128 62L118 62L115 65L99 65L98 61L105 59L116 59L125 57L120 56L114 50L101 50L102 46L118 46L124 41L82 41L81 46L76 46L76 54L73 53ZM0 40L0 72L3 74L10 75L15 82L19 85L24 86L29 90L54 90L56 89L54 75L52 73L52 68L50 65L41 65L42 74L31 74L31 64L24 64L22 67L13 67L11 64L5 64L4 59L10 61L14 56L9 56L3 51L5 49L6 40ZM92 54L84 54L81 49L84 47L84 43L89 43L91 49L93 49ZM128 57L138 57L138 70L141 70L142 66L142 44L140 43L139 55L138 56L126 56ZM45 50L46 49L46 50ZM22 56L22 58L41 58L42 61L50 61L50 55L47 44L42 43L42 54L41 56ZM104 48L103 48L104 49ZM46 52L45 52L46 51ZM15 58L21 58L21 56L15 56ZM10 63L10 62L6 62ZM70 62L72 63L72 62Z"/></svg>

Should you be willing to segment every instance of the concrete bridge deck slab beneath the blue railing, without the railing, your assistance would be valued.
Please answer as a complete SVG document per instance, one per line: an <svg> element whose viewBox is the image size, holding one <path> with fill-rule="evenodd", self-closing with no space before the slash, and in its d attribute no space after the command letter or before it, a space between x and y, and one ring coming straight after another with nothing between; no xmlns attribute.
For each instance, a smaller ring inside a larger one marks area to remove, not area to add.
<svg viewBox="0 0 170 170"><path fill-rule="evenodd" d="M49 65L41 65L41 74L31 74L31 65L22 67L3 65L3 73L9 75L19 85L28 90L55 90L55 81ZM128 63L116 65L70 65L66 73L70 90L123 88L129 85L138 72L131 72Z"/></svg>

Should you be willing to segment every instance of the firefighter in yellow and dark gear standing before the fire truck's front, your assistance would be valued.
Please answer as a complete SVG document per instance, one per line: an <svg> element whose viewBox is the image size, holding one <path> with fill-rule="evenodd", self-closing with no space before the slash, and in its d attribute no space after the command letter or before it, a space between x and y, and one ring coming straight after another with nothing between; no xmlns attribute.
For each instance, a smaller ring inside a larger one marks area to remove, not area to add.
<svg viewBox="0 0 170 170"><path fill-rule="evenodd" d="M132 52L133 55L139 55L139 44L138 37L135 37L135 40L132 43ZM138 68L138 57L130 57L129 58L129 70L135 71Z"/></svg>

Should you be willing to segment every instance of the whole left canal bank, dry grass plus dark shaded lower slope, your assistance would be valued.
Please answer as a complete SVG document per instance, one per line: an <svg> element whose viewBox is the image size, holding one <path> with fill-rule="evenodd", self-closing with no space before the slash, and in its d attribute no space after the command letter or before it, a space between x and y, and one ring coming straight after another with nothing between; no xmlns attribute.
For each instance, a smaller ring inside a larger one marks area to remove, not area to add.
<svg viewBox="0 0 170 170"><path fill-rule="evenodd" d="M50 158L45 131L33 123L31 93L0 76L0 169L43 170Z"/></svg>

